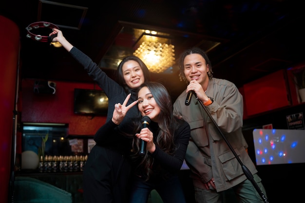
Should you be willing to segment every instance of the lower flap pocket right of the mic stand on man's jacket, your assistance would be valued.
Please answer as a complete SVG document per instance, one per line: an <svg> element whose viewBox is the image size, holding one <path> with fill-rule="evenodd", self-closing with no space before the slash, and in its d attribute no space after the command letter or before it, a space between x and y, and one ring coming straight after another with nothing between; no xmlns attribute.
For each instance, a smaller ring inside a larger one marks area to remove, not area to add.
<svg viewBox="0 0 305 203"><path fill-rule="evenodd" d="M239 150L237 148L234 148L234 150L237 156L240 156ZM229 181L244 173L242 167L231 151L219 155L218 158L222 163L223 171Z"/></svg>

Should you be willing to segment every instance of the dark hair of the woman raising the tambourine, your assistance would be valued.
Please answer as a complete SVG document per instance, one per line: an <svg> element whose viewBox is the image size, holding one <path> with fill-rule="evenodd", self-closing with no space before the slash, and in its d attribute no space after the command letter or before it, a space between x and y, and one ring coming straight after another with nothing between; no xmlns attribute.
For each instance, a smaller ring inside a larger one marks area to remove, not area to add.
<svg viewBox="0 0 305 203"><path fill-rule="evenodd" d="M135 55L126 56L125 58L123 58L123 60L117 66L116 73L115 73L116 82L120 86L124 87L126 93L130 92L129 91L130 88L126 85L126 82L124 80L124 75L123 75L123 72L122 72L122 67L123 67L124 63L126 63L127 61L130 61L130 60L134 60L134 61L139 63L140 68L143 71L144 81L145 82L148 82L148 81L151 80L151 75L150 75L150 72L149 72L147 66L145 65L145 63L139 57L137 57Z"/></svg>

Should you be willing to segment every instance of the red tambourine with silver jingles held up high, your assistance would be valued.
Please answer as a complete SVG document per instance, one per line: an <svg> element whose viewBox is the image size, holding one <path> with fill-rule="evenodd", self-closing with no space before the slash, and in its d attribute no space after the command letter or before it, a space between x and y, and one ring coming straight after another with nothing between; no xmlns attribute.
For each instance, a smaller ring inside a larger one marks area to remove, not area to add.
<svg viewBox="0 0 305 203"><path fill-rule="evenodd" d="M26 37L40 42L52 42L52 39L57 37L57 34L49 36L53 28L59 29L50 22L34 22L26 28L28 33Z"/></svg>

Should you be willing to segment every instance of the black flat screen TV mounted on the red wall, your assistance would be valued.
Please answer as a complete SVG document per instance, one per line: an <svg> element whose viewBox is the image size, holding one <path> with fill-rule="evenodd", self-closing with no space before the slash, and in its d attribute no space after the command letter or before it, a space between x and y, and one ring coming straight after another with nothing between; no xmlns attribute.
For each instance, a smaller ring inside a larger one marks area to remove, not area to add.
<svg viewBox="0 0 305 203"><path fill-rule="evenodd" d="M74 89L74 113L107 115L108 97L104 91Z"/></svg>

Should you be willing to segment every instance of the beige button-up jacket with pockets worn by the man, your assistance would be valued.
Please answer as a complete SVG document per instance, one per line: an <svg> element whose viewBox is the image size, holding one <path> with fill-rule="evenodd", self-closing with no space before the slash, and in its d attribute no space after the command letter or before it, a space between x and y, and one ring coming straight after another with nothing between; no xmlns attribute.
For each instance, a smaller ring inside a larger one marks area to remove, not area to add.
<svg viewBox="0 0 305 203"><path fill-rule="evenodd" d="M243 97L237 87L228 80L212 78L207 96L214 102L206 106L213 120L225 135L229 144L248 170L257 170L248 156L248 144L242 134ZM191 169L193 184L205 188L203 183L215 179L217 192L227 190L247 179L241 164L235 158L221 133L193 96L191 104L185 105L187 93L182 92L174 103L174 114L182 115L191 126L191 140L185 160Z"/></svg>

